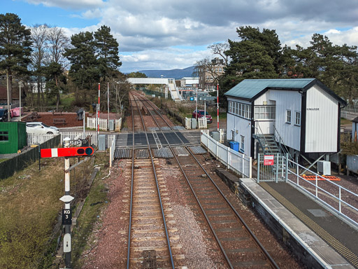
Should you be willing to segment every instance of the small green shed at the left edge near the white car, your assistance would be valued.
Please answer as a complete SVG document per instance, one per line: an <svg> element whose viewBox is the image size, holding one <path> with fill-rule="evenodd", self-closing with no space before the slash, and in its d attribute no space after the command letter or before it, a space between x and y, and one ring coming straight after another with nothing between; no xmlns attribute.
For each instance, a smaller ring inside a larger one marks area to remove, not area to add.
<svg viewBox="0 0 358 269"><path fill-rule="evenodd" d="M27 146L26 123L0 123L0 154L17 153Z"/></svg>

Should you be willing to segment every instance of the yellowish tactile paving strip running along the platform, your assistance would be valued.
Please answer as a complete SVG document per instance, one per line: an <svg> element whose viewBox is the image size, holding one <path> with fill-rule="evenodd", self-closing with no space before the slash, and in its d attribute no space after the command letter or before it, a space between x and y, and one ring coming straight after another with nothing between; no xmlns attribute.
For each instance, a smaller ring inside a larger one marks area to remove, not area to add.
<svg viewBox="0 0 358 269"><path fill-rule="evenodd" d="M277 199L282 205L284 205L287 209L289 209L292 214L298 217L303 223L305 223L308 228L313 230L317 235L319 235L327 244L333 247L341 256L347 259L352 265L358 267L358 256L355 255L350 249L345 247L341 242L339 242L335 237L330 235L326 230L324 230L321 226L319 226L315 221L310 219L306 214L303 214L300 209L292 205L286 198L284 198L280 193L275 191L271 186L268 186L265 182L260 182L260 186L264 188L268 193L273 195L275 199Z"/></svg>

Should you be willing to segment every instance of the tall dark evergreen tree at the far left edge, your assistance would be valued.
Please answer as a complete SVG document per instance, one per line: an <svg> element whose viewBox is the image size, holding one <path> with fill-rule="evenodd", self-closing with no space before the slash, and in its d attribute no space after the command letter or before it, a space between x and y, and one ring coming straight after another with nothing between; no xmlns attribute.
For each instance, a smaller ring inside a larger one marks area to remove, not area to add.
<svg viewBox="0 0 358 269"><path fill-rule="evenodd" d="M27 74L31 55L31 32L22 25L20 18L13 13L0 14L0 70L10 76L12 89L13 76ZM11 90L9 96L12 102Z"/></svg>

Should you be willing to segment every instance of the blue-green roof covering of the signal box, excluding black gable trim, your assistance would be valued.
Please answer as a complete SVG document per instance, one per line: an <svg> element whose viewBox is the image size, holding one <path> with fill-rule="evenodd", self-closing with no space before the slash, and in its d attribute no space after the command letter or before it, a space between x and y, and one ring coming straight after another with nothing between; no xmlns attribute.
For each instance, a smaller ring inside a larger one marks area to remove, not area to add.
<svg viewBox="0 0 358 269"><path fill-rule="evenodd" d="M282 90L303 89L315 81L315 78L291 78L291 79L245 79L231 88L224 95L252 99L266 88L278 88Z"/></svg>

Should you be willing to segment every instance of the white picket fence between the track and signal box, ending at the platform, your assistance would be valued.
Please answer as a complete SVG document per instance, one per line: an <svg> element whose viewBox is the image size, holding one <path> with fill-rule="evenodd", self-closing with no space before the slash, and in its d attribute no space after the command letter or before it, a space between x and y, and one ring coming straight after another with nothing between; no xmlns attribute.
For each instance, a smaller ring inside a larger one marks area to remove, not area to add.
<svg viewBox="0 0 358 269"><path fill-rule="evenodd" d="M201 132L201 144L205 146L217 160L220 160L221 163L226 165L228 169L241 174L243 177L252 177L251 157L220 144L210 137L207 132Z"/></svg>

